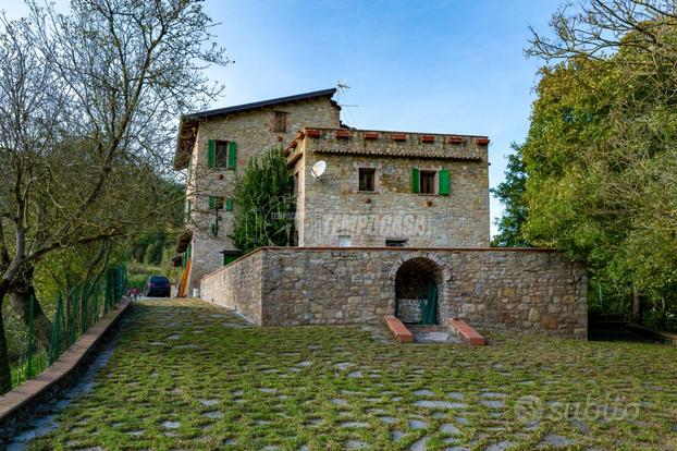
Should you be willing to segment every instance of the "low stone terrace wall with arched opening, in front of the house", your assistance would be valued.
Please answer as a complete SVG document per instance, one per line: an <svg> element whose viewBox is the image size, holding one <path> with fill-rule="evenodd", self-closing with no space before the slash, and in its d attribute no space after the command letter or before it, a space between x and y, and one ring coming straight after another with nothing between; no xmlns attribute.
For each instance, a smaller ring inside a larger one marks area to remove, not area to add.
<svg viewBox="0 0 677 451"><path fill-rule="evenodd" d="M379 322L411 266L436 284L439 324L587 336L586 269L550 249L260 248L202 279L201 296L264 326Z"/></svg>

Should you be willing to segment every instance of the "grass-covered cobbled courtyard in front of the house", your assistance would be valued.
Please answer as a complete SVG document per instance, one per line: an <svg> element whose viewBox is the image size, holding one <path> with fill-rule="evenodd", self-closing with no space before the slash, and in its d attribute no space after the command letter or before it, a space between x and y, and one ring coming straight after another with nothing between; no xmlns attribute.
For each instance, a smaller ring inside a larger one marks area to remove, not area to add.
<svg viewBox="0 0 677 451"><path fill-rule="evenodd" d="M132 315L95 389L32 449L677 449L676 348L497 333L485 348L395 345L359 327L233 327L197 301ZM595 418L603 404L631 417Z"/></svg>

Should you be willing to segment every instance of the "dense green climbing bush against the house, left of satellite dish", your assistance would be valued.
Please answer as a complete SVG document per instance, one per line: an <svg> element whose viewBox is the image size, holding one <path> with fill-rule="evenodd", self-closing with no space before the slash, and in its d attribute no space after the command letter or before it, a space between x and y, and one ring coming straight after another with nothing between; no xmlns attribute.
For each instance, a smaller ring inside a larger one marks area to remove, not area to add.
<svg viewBox="0 0 677 451"><path fill-rule="evenodd" d="M294 243L293 183L281 148L271 148L261 158L249 159L236 181L235 217L230 235L239 251Z"/></svg>

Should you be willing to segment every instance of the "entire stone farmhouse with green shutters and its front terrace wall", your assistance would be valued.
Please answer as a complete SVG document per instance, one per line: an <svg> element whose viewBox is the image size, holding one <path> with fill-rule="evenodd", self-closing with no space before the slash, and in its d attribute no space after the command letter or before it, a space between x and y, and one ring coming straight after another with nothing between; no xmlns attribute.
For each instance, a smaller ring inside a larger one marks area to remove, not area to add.
<svg viewBox="0 0 677 451"><path fill-rule="evenodd" d="M444 325L584 338L582 266L553 249L492 248L487 136L355 130L335 89L185 115L184 294L258 325ZM282 146L294 178L291 246L241 256L229 239L247 160ZM318 168L323 167L321 174Z"/></svg>

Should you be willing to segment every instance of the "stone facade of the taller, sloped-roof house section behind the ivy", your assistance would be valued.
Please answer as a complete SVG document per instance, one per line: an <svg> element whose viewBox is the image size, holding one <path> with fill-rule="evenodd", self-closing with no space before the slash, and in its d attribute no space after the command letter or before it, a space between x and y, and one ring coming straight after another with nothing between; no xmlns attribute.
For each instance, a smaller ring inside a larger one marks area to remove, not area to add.
<svg viewBox="0 0 677 451"><path fill-rule="evenodd" d="M275 131L275 113L286 115L286 132ZM197 114L199 117L199 113ZM330 96L286 101L262 108L198 118L192 151L187 162L189 181L186 197L190 204L189 228L193 230L192 265L187 291L199 287L199 280L223 265L221 251L234 249L227 235L232 231L234 209L220 209L217 236L211 226L217 211L209 209L209 196L232 198L235 178L247 160L273 146L283 146L307 124L337 127L340 108ZM234 169L212 169L208 164L208 142L229 141L237 146Z"/></svg>

